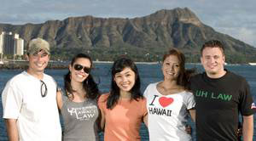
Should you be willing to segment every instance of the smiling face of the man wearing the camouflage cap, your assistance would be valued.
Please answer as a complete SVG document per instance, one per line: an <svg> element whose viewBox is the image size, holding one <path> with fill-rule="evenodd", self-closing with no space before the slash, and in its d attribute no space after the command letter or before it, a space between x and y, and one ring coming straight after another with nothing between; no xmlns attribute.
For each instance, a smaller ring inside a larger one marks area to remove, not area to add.
<svg viewBox="0 0 256 141"><path fill-rule="evenodd" d="M49 54L47 54L44 50L41 50L38 53L29 54L26 56L26 59L29 61L29 67L27 71L30 74L43 74L44 69L49 62Z"/></svg>

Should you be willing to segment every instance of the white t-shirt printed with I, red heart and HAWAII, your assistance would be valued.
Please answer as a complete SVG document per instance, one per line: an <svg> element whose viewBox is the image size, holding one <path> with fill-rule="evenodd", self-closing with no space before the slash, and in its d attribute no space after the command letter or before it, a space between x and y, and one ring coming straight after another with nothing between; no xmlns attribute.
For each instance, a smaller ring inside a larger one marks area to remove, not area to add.
<svg viewBox="0 0 256 141"><path fill-rule="evenodd" d="M144 92L147 99L148 133L151 141L189 141L191 136L185 132L189 109L195 107L192 93L183 91L162 95L156 83L149 84Z"/></svg>

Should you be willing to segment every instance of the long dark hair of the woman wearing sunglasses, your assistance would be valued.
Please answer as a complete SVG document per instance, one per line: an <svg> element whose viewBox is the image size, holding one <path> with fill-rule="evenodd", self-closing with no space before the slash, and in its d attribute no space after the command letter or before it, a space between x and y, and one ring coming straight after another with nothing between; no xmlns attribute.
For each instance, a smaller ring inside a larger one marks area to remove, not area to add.
<svg viewBox="0 0 256 141"><path fill-rule="evenodd" d="M72 61L71 61L71 66L73 66L73 64L75 63L75 61L77 59L89 59L90 60L90 68L92 67L92 60L90 59L90 56L88 56L87 54L77 54L76 56L73 57ZM71 86L71 72L68 71L67 74L64 76L64 88L65 91L67 92L67 96L69 96L68 93L72 94L72 99L73 99L73 92L75 92L75 90L73 90L72 86ZM99 89L98 86L96 84L96 82L94 81L93 77L91 76L91 74L89 74L89 76L87 76L87 78L84 80L83 82L83 87L84 90L86 92L85 97L88 99L97 99L99 96Z"/></svg>

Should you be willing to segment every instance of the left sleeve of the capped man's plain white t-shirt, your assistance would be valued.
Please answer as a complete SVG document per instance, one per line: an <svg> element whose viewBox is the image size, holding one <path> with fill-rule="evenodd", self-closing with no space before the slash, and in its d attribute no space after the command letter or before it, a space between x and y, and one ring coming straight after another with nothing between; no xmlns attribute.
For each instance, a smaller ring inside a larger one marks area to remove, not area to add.
<svg viewBox="0 0 256 141"><path fill-rule="evenodd" d="M2 93L3 118L18 119L22 105L22 94L13 82L8 82Z"/></svg>

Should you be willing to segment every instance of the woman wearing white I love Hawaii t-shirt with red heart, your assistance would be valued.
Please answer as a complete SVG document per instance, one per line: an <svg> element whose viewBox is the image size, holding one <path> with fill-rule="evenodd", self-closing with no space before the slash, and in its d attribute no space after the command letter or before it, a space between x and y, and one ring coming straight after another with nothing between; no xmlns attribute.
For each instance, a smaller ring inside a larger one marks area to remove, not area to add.
<svg viewBox="0 0 256 141"><path fill-rule="evenodd" d="M150 140L191 140L186 123L189 114L195 121L195 100L188 90L194 71L185 70L184 65L184 55L171 49L163 57L164 80L149 84L144 92Z"/></svg>

